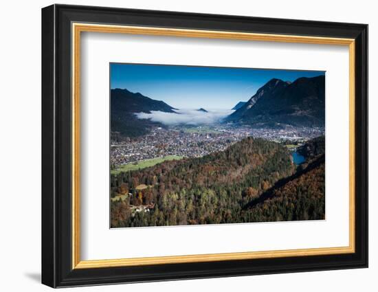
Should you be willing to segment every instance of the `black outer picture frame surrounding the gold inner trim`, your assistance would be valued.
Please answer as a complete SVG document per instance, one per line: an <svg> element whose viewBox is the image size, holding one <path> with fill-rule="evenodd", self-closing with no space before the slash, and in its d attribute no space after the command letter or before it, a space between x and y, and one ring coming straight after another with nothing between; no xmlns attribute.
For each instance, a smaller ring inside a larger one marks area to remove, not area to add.
<svg viewBox="0 0 378 292"><path fill-rule="evenodd" d="M355 253L72 269L71 23L355 39ZM368 25L51 5L42 9L42 283L50 287L368 267Z"/></svg>

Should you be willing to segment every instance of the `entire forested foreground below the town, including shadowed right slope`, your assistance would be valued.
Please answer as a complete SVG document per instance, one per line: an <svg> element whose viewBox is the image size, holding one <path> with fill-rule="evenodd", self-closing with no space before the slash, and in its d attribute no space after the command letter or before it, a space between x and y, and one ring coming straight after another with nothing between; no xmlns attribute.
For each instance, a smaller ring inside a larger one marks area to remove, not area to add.
<svg viewBox="0 0 378 292"><path fill-rule="evenodd" d="M224 151L111 175L111 227L324 219L324 137L293 164L282 144L248 137Z"/></svg>

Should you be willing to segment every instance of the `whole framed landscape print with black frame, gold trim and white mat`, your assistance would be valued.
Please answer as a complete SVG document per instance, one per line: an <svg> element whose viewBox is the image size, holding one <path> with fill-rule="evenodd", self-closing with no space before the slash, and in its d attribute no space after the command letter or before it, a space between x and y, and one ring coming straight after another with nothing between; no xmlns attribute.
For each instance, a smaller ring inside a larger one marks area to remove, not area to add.
<svg viewBox="0 0 378 292"><path fill-rule="evenodd" d="M43 8L43 284L367 267L367 40Z"/></svg>

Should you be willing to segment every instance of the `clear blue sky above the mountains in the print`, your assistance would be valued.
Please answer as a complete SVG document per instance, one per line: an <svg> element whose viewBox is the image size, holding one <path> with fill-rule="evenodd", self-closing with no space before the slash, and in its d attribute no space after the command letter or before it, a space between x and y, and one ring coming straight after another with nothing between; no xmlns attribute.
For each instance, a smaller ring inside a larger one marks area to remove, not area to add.
<svg viewBox="0 0 378 292"><path fill-rule="evenodd" d="M271 78L294 81L324 71L111 63L111 88L140 92L177 109L232 109Z"/></svg>

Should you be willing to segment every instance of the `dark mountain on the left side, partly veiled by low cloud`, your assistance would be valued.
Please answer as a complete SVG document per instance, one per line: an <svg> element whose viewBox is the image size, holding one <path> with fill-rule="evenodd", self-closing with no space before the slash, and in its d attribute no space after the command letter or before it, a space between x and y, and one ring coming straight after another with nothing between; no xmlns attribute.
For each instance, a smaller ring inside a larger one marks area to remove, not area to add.
<svg viewBox="0 0 378 292"><path fill-rule="evenodd" d="M151 120L140 120L135 113L164 111L175 113L175 108L161 100L153 100L127 89L111 89L111 132L113 137L137 137L148 133L152 126L163 126Z"/></svg>

